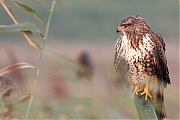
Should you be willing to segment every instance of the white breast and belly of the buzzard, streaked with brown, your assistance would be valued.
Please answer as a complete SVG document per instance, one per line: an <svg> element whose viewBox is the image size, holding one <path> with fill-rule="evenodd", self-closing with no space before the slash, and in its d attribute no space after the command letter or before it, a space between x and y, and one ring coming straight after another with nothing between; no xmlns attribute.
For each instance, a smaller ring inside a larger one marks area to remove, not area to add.
<svg viewBox="0 0 180 120"><path fill-rule="evenodd" d="M133 83L145 83L149 79L149 75L153 74L154 44L148 35L144 36L139 43L129 40L126 36L122 36L119 48L119 56L124 59L125 66L128 71L128 79ZM133 44L138 46L134 47Z"/></svg>

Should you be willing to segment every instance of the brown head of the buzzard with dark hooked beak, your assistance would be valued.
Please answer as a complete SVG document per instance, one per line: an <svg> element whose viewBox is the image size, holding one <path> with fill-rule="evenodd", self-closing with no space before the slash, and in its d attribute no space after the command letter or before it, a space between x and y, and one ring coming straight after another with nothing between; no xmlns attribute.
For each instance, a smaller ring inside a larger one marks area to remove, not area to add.
<svg viewBox="0 0 180 120"><path fill-rule="evenodd" d="M150 27L139 15L133 15L123 19L118 26L116 33L129 33L134 31L150 30Z"/></svg>

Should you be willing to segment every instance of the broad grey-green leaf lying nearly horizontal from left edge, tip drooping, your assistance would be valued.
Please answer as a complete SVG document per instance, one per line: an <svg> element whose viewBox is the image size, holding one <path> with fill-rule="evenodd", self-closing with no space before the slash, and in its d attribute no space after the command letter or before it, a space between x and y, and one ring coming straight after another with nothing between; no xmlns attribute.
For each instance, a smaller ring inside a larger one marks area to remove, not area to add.
<svg viewBox="0 0 180 120"><path fill-rule="evenodd" d="M32 31L37 32L43 38L43 33L32 23L20 23L13 25L0 25L0 32Z"/></svg>

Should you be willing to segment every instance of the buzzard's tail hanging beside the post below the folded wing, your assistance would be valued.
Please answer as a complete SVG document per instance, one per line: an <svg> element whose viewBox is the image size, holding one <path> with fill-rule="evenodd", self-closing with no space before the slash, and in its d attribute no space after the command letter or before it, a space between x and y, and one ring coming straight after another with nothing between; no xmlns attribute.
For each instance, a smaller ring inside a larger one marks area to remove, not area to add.
<svg viewBox="0 0 180 120"><path fill-rule="evenodd" d="M159 120L164 120L167 117L165 106L164 106L164 93L163 92L164 92L163 85L159 85L157 96L156 96L157 98L156 105L155 105L156 115Z"/></svg>

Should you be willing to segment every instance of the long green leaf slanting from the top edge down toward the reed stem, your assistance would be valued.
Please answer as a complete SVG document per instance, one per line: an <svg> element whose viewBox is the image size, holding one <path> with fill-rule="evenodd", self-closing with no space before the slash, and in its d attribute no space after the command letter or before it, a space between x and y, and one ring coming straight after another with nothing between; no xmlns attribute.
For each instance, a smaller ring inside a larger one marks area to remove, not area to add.
<svg viewBox="0 0 180 120"><path fill-rule="evenodd" d="M43 22L44 24L47 24L47 21L34 9L32 9L31 7L23 4L22 2L18 1L18 0L13 0L13 2L15 3L15 5L17 5L19 8L21 8L22 10L24 10L27 14L31 15L32 17L36 18L37 20Z"/></svg>

